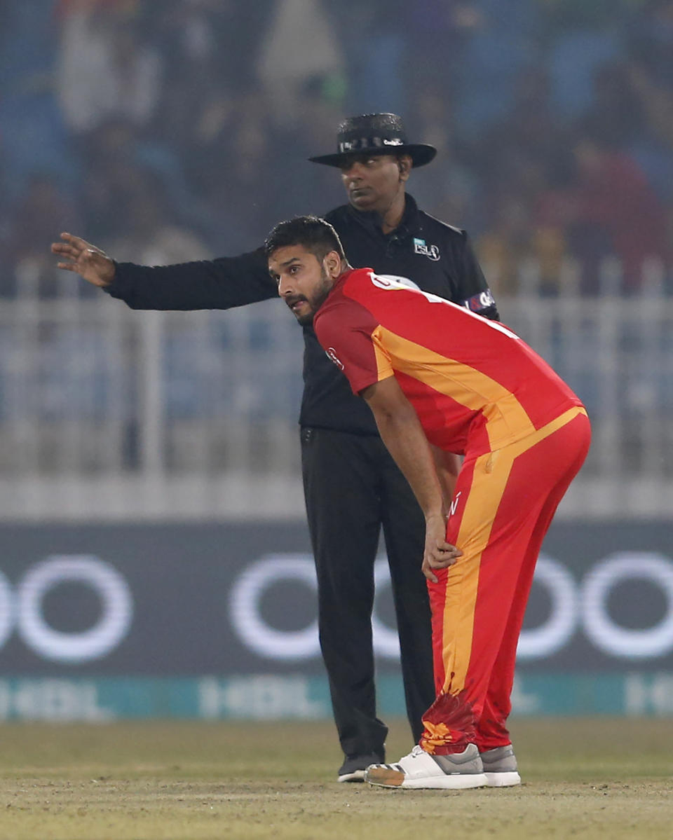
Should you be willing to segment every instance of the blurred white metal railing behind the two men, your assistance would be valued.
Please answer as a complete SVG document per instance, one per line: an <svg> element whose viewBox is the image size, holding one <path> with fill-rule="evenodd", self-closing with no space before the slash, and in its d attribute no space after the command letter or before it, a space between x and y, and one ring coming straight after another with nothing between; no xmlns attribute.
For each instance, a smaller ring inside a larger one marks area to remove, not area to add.
<svg viewBox="0 0 673 840"><path fill-rule="evenodd" d="M545 296L523 265L502 320L586 402L593 445L565 516L673 507L673 302L659 264L622 294L618 265L582 296L566 265ZM302 336L280 302L131 312L71 276L39 297L24 266L0 302L0 516L303 516Z"/></svg>

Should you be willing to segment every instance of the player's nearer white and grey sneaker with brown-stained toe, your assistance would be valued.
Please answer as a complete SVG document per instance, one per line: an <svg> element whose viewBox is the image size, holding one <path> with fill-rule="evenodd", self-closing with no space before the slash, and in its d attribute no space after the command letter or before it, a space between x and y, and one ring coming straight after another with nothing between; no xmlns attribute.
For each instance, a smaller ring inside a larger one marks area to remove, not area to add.
<svg viewBox="0 0 673 840"><path fill-rule="evenodd" d="M402 788L465 788L488 784L476 744L470 743L462 753L430 755L418 745L397 764L370 764L365 770L370 785Z"/></svg>

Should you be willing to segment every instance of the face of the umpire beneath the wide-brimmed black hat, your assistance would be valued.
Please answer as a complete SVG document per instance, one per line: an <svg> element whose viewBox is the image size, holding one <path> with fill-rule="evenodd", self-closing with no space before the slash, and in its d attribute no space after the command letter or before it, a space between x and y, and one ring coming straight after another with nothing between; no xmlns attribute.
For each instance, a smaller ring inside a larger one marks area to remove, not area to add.
<svg viewBox="0 0 673 840"><path fill-rule="evenodd" d="M381 216L407 180L411 158L400 166L395 155L349 155L341 167L341 180L348 200L356 210L376 211Z"/></svg>

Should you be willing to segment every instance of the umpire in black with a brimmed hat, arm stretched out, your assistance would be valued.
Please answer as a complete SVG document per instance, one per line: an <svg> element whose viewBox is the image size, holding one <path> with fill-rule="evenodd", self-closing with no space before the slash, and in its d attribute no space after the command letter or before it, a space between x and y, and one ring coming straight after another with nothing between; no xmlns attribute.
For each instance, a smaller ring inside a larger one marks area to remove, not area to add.
<svg viewBox="0 0 673 840"><path fill-rule="evenodd" d="M311 158L334 166L349 203L327 213L351 265L413 277L432 292L497 318L465 231L418 209L405 192L414 166L436 150L410 144L396 114L366 114L339 125L337 152ZM276 297L264 249L181 265L115 263L82 239L52 245L63 262L133 309L229 309ZM402 651L407 716L418 741L434 701L428 593L421 573L424 520L402 473L381 443L369 407L304 333L299 417L302 472L318 574L318 624L334 720L344 751L339 781L364 779L385 761L387 727L376 717L371 612L374 562L383 528Z"/></svg>

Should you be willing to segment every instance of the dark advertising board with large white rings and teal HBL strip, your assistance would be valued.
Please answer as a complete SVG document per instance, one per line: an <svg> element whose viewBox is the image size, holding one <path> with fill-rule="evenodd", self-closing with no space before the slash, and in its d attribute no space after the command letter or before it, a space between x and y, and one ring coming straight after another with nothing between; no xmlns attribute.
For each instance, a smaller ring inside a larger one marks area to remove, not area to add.
<svg viewBox="0 0 673 840"><path fill-rule="evenodd" d="M553 526L518 649L521 709L579 713L563 686L581 684L585 709L673 713L670 537L668 522ZM281 717L329 714L302 524L3 525L0 538L0 717L226 717L260 693ZM379 695L402 713L384 554L376 591ZM554 680L546 700L523 701L526 685ZM617 709L610 691L587 694L611 680ZM154 711L143 690L164 697Z"/></svg>

